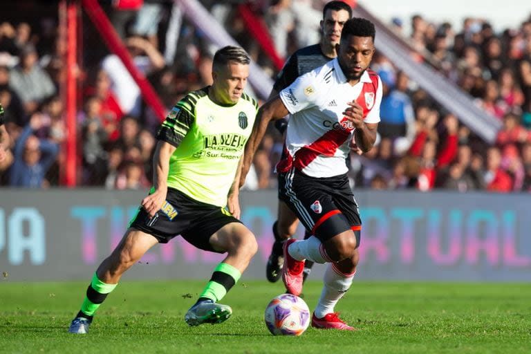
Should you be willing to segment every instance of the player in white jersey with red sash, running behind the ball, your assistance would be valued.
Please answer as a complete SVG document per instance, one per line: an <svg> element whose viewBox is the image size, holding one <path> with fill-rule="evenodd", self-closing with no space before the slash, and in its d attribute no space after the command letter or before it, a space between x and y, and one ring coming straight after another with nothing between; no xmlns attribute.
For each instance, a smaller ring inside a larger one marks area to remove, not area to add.
<svg viewBox="0 0 531 354"><path fill-rule="evenodd" d="M312 317L315 328L354 329L339 319L334 308L351 287L362 229L345 157L353 142L358 149L369 151L380 122L382 82L369 69L374 37L371 21L346 21L337 58L302 75L268 100L259 109L245 146L242 178L270 120L291 114L286 158L277 165L277 171L286 174L279 196L315 236L284 243L282 280L288 292L299 295L304 260L328 263Z"/></svg>

